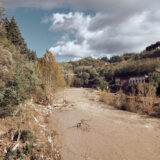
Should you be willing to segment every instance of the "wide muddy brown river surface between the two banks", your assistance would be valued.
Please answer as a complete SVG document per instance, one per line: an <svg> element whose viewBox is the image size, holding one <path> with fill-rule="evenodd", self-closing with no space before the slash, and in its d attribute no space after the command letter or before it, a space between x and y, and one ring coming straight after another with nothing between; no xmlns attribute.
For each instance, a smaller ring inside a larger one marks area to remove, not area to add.
<svg viewBox="0 0 160 160"><path fill-rule="evenodd" d="M87 89L66 89L50 127L63 160L160 160L160 120L114 110ZM94 97L95 96L95 97Z"/></svg>

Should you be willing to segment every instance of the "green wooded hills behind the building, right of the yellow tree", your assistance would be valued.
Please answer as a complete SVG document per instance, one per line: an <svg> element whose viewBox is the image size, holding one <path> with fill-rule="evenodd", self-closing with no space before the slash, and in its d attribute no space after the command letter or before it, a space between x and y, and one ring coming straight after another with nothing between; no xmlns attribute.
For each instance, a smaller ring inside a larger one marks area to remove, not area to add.
<svg viewBox="0 0 160 160"><path fill-rule="evenodd" d="M159 42L152 44L141 53L126 53L94 59L87 57L79 61L61 63L68 85L111 90L116 89L115 78L125 76L149 75L148 83L159 90L160 74L155 72L160 68ZM69 80L67 72L74 77ZM159 92L159 91L158 91Z"/></svg>

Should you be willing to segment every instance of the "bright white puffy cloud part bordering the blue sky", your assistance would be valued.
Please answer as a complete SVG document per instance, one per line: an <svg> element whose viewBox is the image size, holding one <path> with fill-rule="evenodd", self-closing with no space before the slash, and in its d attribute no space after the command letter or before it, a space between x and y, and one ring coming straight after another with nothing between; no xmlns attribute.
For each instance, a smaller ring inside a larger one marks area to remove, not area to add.
<svg viewBox="0 0 160 160"><path fill-rule="evenodd" d="M50 49L54 55L72 57L95 56L96 53L90 48L88 42L95 36L102 35L103 31L89 31L91 20L91 16L79 12L53 14L51 18L52 25L49 30L53 32L65 31L65 36L62 37L62 40ZM72 39L69 38L71 35L73 35Z"/></svg>

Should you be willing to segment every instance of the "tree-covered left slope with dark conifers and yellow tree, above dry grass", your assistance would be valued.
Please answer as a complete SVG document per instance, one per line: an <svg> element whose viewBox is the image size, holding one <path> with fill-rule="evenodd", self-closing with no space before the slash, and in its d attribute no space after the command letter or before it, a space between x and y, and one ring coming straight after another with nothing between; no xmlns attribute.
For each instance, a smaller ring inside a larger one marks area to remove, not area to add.
<svg viewBox="0 0 160 160"><path fill-rule="evenodd" d="M46 99L49 92L64 86L52 53L47 50L38 59L36 52L28 49L15 18L9 21L0 7L0 117L12 115L27 98Z"/></svg>

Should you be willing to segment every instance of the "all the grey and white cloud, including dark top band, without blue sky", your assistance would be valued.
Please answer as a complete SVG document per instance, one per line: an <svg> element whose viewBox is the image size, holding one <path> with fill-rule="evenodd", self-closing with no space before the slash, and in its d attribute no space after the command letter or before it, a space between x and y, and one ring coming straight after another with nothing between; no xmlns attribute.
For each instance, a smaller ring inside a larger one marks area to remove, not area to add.
<svg viewBox="0 0 160 160"><path fill-rule="evenodd" d="M1 0L7 7L71 8L42 22L63 33L51 51L58 56L102 56L141 51L159 41L159 0ZM91 9L90 16L82 10Z"/></svg>

